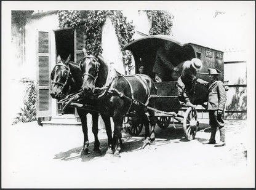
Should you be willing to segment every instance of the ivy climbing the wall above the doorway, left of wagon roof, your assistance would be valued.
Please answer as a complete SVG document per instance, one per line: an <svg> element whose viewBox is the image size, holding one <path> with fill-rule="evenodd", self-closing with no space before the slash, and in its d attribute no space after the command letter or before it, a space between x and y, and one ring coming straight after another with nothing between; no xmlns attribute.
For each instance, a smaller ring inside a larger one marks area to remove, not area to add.
<svg viewBox="0 0 256 190"><path fill-rule="evenodd" d="M74 29L84 29L85 41L84 47L88 54L97 55L102 53L102 26L109 16L115 27L116 36L118 36L119 45L124 47L132 41L134 35L134 26L127 22L126 17L121 10L60 10L58 11L58 20L60 28L65 26ZM132 69L131 57L122 52L124 66Z"/></svg>

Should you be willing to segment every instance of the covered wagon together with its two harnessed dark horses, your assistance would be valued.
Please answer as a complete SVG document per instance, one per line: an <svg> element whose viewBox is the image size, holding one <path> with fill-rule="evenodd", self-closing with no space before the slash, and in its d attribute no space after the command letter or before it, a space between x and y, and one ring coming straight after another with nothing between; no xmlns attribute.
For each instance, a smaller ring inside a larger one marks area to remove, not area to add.
<svg viewBox="0 0 256 190"><path fill-rule="evenodd" d="M65 61L59 59L51 73L53 86L50 95L65 104L63 109L67 106L78 108L84 132L82 151L85 154L89 150L85 116L87 113L91 113L93 116L94 150L100 151L100 143L97 137L97 119L98 113L100 113L105 122L108 136L107 152L113 151L116 156L119 156L121 149L122 125L126 127L130 135L134 136L139 135L143 126L145 126L143 147L146 144L153 143L156 123L159 127L165 129L171 122L174 125L175 122L178 122L183 124L182 128L188 140L195 137L199 125L197 111L194 107L183 108L182 103L177 99L177 79L180 73L169 72L166 73L164 82L153 81L152 68L156 52L159 47L166 45L169 48L166 52L167 57L176 67L182 68L184 61L196 57L204 63L203 73L198 73L200 78L209 81L207 77L208 68L218 68L223 73L223 52L196 44L185 44L183 46L162 36L138 39L123 48L123 50L130 50L133 53L136 69L141 63L146 66L145 74L124 76L111 68L101 55L97 57L87 55L85 49L84 58L79 65L70 63L69 57ZM207 88L193 82L188 97L194 105L204 105L207 101ZM186 110L183 116L179 114L179 111L182 110ZM146 116L146 111L148 111L148 116ZM113 137L110 117L113 118L114 122ZM124 122L122 118L124 118Z"/></svg>

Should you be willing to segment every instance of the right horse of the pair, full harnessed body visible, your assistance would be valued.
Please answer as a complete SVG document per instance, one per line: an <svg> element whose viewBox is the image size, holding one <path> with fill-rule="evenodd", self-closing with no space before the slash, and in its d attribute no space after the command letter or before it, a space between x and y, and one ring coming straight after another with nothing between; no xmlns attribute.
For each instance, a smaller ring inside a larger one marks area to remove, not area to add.
<svg viewBox="0 0 256 190"><path fill-rule="evenodd" d="M130 111L135 111L145 125L146 140L144 144L153 143L154 127L156 125L154 111L148 110L151 124L150 133L148 117L145 114L146 107L142 104L136 104L136 101L139 101L148 106L154 106L154 101L150 99L150 95L156 95L157 91L153 80L143 74L123 76L113 68L111 69L103 60L102 55L95 57L94 55L87 55L86 52L84 54L85 57L80 63L83 73L82 90L86 95L90 95L90 97L94 97L97 91L103 91L102 95L96 97L95 100L97 101L97 109L100 111L101 116L113 117L114 156L119 156L119 151L121 150L121 141L119 140L121 140L122 118ZM107 133L111 133L111 129L106 130Z"/></svg>

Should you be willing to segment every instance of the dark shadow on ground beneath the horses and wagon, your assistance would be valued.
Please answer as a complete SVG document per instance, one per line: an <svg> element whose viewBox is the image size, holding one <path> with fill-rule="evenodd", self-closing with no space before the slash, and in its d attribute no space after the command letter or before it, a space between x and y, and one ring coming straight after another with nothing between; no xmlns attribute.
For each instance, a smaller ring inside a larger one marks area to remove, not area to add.
<svg viewBox="0 0 256 190"><path fill-rule="evenodd" d="M200 124L199 129L201 131L210 132L210 129L206 129L205 124ZM187 142L185 135L183 133L183 129L181 126L178 129L174 129L174 127L169 126L167 129L161 129L159 127L156 127L155 129L155 146L162 146L165 144L170 143L180 143L180 142ZM142 130L142 133L138 135L138 137L132 137L128 133L126 133L124 130L122 131L122 146L121 146L121 152L132 152L132 151L140 151L143 146L143 141L145 140L145 130ZM196 138L195 140L198 140L200 142L206 141L206 139L202 138ZM87 155L81 155L82 146L70 149L65 152L60 152L58 154L55 154L54 159L59 160L78 160L81 159L82 162L88 162L92 159L98 159L100 157L105 156L106 150L108 148L108 139L102 139L100 140L100 151L101 153L94 152L94 142L90 143L89 146L89 154Z"/></svg>

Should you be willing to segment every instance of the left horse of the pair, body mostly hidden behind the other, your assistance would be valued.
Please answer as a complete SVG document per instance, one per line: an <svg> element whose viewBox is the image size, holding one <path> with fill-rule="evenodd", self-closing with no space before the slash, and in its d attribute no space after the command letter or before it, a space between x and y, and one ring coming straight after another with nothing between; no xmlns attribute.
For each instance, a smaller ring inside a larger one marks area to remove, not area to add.
<svg viewBox="0 0 256 190"><path fill-rule="evenodd" d="M61 100L66 95L78 92L82 87L82 73L78 65L70 63L70 56L63 61L60 55L57 57L57 64L55 65L52 73L50 74L52 79L52 90L50 95L52 98ZM92 100L82 100L82 103L87 105L93 105ZM78 115L82 123L82 132L84 133L84 146L81 154L88 154L89 152L89 140L88 140L88 129L87 129L87 118L86 115L89 111L84 109L77 109ZM92 114L92 132L94 133L94 151L100 152L100 141L98 141L98 113L90 112ZM110 119L103 118L105 124L110 125Z"/></svg>

